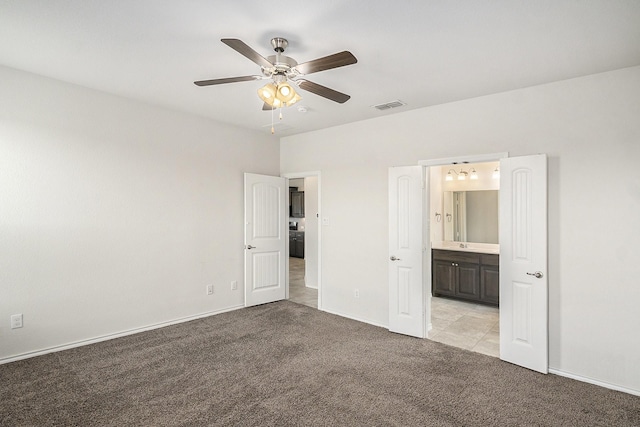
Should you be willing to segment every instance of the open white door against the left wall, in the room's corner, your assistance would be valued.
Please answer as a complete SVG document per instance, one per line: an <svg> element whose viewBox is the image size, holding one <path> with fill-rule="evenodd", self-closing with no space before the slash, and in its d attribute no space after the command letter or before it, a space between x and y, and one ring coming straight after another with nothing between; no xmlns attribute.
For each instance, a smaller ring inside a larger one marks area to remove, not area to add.
<svg viewBox="0 0 640 427"><path fill-rule="evenodd" d="M287 184L244 174L244 305L286 298Z"/></svg>

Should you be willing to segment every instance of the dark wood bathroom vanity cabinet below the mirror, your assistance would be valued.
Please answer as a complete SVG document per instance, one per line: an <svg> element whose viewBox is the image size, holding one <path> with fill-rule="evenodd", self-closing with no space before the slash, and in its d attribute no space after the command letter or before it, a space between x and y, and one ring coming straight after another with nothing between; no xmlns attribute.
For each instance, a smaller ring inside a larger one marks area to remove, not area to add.
<svg viewBox="0 0 640 427"><path fill-rule="evenodd" d="M498 305L499 257L475 252L432 251L432 293Z"/></svg>

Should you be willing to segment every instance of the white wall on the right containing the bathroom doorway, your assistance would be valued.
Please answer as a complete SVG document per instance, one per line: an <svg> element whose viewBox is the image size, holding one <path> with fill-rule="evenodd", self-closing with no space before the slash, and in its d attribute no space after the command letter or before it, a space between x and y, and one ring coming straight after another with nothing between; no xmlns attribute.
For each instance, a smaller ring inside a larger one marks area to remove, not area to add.
<svg viewBox="0 0 640 427"><path fill-rule="evenodd" d="M282 171L322 172L323 307L388 323L389 166L546 153L550 366L640 392L638 117L633 67L283 138Z"/></svg>

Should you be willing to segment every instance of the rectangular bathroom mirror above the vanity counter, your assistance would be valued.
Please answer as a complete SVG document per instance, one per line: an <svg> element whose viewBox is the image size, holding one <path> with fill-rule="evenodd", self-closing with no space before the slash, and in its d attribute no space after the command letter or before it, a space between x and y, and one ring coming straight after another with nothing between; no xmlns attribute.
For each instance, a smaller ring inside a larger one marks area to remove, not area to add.
<svg viewBox="0 0 640 427"><path fill-rule="evenodd" d="M498 243L498 193L444 191L444 240Z"/></svg>

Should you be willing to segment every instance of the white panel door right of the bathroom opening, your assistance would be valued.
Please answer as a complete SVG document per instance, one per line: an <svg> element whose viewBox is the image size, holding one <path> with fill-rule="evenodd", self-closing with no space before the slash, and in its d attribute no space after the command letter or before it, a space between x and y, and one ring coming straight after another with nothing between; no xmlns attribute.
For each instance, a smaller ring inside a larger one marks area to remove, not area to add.
<svg viewBox="0 0 640 427"><path fill-rule="evenodd" d="M547 157L500 160L500 358L548 372Z"/></svg>

